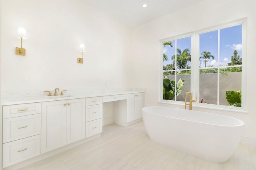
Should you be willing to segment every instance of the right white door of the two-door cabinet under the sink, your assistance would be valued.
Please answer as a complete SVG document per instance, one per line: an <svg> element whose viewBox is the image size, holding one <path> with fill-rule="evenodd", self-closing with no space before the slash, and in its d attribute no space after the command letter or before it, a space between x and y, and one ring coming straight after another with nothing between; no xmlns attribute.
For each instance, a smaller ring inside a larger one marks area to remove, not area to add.
<svg viewBox="0 0 256 170"><path fill-rule="evenodd" d="M66 144L85 138L85 98L66 101L67 127Z"/></svg>

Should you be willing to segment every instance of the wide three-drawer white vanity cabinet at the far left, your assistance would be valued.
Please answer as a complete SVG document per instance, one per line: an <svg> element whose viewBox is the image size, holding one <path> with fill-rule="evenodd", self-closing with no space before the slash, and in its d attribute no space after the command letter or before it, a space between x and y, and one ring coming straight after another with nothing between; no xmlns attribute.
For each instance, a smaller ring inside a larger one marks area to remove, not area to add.
<svg viewBox="0 0 256 170"><path fill-rule="evenodd" d="M41 103L3 106L3 168L41 154Z"/></svg>

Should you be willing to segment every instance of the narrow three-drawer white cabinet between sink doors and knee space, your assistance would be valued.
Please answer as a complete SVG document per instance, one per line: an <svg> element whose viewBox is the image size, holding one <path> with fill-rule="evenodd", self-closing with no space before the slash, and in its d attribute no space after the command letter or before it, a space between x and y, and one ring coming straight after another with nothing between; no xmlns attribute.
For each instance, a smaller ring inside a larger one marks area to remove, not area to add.
<svg viewBox="0 0 256 170"><path fill-rule="evenodd" d="M102 97L86 98L86 138L102 132L102 111Z"/></svg>

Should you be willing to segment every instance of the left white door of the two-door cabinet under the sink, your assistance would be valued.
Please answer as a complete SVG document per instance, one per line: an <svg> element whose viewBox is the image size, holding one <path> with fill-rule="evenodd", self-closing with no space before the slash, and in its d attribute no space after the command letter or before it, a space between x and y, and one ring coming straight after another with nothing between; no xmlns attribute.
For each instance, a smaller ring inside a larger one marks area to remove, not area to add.
<svg viewBox="0 0 256 170"><path fill-rule="evenodd" d="M41 152L66 145L66 100L42 102Z"/></svg>

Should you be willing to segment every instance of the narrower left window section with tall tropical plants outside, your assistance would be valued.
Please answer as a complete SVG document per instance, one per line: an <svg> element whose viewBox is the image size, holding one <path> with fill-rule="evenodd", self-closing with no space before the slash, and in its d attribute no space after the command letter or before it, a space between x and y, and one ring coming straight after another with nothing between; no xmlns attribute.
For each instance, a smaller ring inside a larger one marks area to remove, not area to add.
<svg viewBox="0 0 256 170"><path fill-rule="evenodd" d="M164 42L163 99L184 101L190 91L191 37Z"/></svg>

